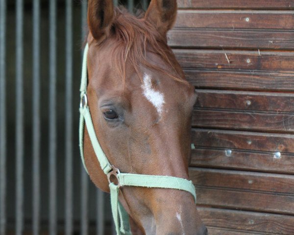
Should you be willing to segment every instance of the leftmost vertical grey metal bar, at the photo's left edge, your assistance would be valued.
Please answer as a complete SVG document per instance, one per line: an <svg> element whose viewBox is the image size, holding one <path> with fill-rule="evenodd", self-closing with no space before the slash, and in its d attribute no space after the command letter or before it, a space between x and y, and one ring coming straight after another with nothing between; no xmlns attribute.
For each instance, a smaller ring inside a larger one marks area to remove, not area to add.
<svg viewBox="0 0 294 235"><path fill-rule="evenodd" d="M6 234L6 0L0 0L0 235Z"/></svg>

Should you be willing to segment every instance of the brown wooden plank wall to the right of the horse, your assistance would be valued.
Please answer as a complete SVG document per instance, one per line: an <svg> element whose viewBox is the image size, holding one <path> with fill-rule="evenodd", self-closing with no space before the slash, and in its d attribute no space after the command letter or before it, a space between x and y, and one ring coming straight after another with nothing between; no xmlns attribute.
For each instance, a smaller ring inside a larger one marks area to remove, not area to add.
<svg viewBox="0 0 294 235"><path fill-rule="evenodd" d="M210 235L294 235L294 0L178 0L190 176Z"/></svg>

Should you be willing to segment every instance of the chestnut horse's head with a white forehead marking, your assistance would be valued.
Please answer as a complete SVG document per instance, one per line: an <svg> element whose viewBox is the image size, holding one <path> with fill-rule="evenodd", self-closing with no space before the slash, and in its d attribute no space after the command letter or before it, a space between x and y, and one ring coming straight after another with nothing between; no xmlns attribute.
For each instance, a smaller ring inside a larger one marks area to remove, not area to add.
<svg viewBox="0 0 294 235"><path fill-rule="evenodd" d="M114 8L112 0L89 0L82 106L89 107L95 138L120 172L188 182L196 93L167 45L176 12L176 0L151 0L141 17ZM109 192L109 182L118 179L107 179L89 130L82 132L86 170ZM175 188L118 187L133 235L207 235L191 193Z"/></svg>

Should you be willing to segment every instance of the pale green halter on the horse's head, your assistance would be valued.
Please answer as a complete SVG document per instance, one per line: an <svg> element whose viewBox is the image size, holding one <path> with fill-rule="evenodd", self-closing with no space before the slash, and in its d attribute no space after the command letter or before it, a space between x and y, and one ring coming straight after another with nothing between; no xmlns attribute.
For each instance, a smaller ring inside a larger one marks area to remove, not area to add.
<svg viewBox="0 0 294 235"><path fill-rule="evenodd" d="M196 203L196 191L192 181L177 178L172 176L160 176L160 175L141 175L141 174L130 174L121 173L119 169L111 165L107 157L105 156L95 133L94 125L91 119L91 114L87 100L87 54L89 46L86 45L84 49L83 65L82 65L82 78L80 86L80 121L79 121L79 146L82 163L85 170L88 173L87 167L84 160L83 150L83 136L84 136L84 122L94 148L96 157L103 172L107 175L110 188L110 200L111 200L111 211L115 223L117 235L131 235L129 226L129 217L123 206L119 202L119 190L120 187L133 186L133 187L147 187L147 188L172 188L190 192ZM114 176L117 179L118 184L111 181L110 177Z"/></svg>

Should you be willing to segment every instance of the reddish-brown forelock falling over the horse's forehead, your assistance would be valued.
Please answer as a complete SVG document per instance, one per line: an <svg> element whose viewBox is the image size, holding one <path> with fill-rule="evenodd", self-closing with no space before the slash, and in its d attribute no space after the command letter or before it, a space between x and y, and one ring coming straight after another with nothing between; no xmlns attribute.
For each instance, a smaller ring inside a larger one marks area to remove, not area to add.
<svg viewBox="0 0 294 235"><path fill-rule="evenodd" d="M111 52L111 58L115 61L115 69L123 77L123 83L126 76L126 62L128 61L142 79L141 66L146 66L154 71L159 71L172 79L188 83L184 77L180 65L175 59L172 49L167 45L165 35L162 35L151 23L141 17L136 17L127 12L124 7L116 7L114 20L110 33L107 37L98 42L98 46L103 44L109 38L115 39L115 45ZM171 71L159 67L147 60L146 52L157 54L167 65L172 68Z"/></svg>

